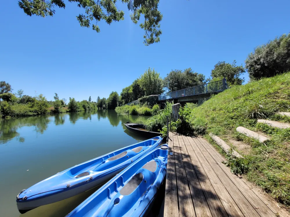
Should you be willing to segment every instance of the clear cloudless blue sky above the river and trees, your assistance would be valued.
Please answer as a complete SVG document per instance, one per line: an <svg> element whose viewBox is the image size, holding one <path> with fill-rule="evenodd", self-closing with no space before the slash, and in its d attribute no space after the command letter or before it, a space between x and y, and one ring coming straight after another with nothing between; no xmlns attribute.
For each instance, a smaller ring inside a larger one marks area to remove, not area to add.
<svg viewBox="0 0 290 217"><path fill-rule="evenodd" d="M143 30L125 20L99 23L100 33L79 26L81 9L67 2L54 17L29 17L16 0L0 8L0 80L16 92L96 101L120 93L148 67L162 78L191 67L209 77L218 61L243 64L254 47L288 33L289 0L160 0L160 43L143 45ZM245 75L246 80L248 76Z"/></svg>

